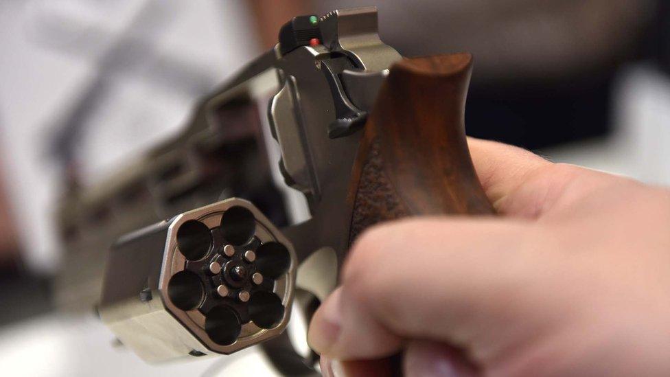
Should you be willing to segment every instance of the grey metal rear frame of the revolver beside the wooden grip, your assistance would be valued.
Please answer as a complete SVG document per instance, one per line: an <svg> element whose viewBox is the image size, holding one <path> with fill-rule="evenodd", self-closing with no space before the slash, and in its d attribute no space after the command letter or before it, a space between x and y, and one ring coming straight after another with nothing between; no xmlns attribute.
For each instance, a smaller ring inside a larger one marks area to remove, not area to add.
<svg viewBox="0 0 670 377"><path fill-rule="evenodd" d="M355 69L367 71L369 74L363 76L371 88L365 94L357 91L357 101L371 104L378 89L373 85L380 84L378 78L384 77L384 70L401 58L395 49L380 41L375 8L338 10L321 17L319 22L324 45L299 47L277 59L281 90L271 100L269 111L281 150L301 161L296 164L301 169L284 169L287 183L305 192L310 204L310 220L284 229L294 243L300 261L324 247L333 249L341 260L348 246L351 218L351 208L346 204L348 177L360 133L336 139L328 135L329 124L336 120L336 100L327 76L321 71L322 63L328 64L345 54L352 59L351 65ZM343 72L332 72L339 73ZM375 79L370 80L371 77ZM352 80L349 80L349 86L356 87ZM337 100L349 101L348 98ZM282 111L275 111L278 108ZM308 184L303 179L305 169L311 177ZM300 174L292 175L294 171Z"/></svg>

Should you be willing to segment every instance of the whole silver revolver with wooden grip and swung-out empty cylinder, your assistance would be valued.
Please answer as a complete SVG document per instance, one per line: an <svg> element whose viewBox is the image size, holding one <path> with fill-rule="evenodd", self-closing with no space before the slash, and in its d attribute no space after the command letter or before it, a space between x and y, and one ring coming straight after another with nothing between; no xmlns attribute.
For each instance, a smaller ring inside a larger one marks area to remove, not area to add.
<svg viewBox="0 0 670 377"><path fill-rule="evenodd" d="M494 212L465 139L471 71L470 54L403 58L376 8L294 17L182 133L65 194L58 304L95 306L148 362L260 345L279 372L315 374L285 330L335 288L362 231Z"/></svg>

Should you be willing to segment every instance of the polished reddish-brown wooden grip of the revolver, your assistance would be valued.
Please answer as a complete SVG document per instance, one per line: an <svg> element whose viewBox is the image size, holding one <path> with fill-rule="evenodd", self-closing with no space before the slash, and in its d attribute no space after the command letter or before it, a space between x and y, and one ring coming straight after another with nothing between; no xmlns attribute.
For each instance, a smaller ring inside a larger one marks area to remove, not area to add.
<svg viewBox="0 0 670 377"><path fill-rule="evenodd" d="M391 67L365 125L349 194L351 236L405 216L493 214L465 139L470 54Z"/></svg>

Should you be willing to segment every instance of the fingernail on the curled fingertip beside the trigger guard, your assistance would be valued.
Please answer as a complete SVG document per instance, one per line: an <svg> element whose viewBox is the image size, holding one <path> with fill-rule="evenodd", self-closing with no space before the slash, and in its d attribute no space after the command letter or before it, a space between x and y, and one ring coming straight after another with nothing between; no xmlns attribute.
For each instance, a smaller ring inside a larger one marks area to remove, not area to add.
<svg viewBox="0 0 670 377"><path fill-rule="evenodd" d="M337 289L312 318L308 332L310 347L319 354L327 354L340 334L340 321L340 289Z"/></svg>

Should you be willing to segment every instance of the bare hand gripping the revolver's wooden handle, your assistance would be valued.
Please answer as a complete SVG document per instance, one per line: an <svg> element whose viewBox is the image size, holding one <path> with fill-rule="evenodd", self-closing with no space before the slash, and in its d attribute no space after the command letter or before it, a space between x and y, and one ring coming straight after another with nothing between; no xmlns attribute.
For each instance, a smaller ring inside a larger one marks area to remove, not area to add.
<svg viewBox="0 0 670 377"><path fill-rule="evenodd" d="M670 376L670 191L469 144L500 216L364 233L314 350L347 376L400 351L406 376Z"/></svg>

